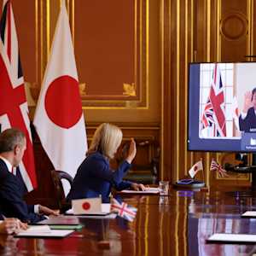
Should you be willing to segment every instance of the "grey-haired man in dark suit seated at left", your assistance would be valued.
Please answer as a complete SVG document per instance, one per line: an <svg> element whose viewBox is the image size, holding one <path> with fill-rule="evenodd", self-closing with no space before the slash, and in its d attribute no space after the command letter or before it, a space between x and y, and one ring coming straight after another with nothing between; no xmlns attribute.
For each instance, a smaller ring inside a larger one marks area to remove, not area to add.
<svg viewBox="0 0 256 256"><path fill-rule="evenodd" d="M20 179L12 173L26 150L26 137L18 129L7 129L0 133L0 208L5 217L19 218L22 222L37 223L43 214L58 215L48 207L29 206L22 199Z"/></svg>

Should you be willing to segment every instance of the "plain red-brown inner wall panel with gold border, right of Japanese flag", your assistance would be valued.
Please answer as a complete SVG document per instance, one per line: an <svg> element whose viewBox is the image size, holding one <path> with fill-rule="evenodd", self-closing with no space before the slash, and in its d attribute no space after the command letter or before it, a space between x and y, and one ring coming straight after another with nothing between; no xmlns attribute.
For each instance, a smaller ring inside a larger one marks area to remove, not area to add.
<svg viewBox="0 0 256 256"><path fill-rule="evenodd" d="M147 1L73 4L83 105L148 108Z"/></svg>

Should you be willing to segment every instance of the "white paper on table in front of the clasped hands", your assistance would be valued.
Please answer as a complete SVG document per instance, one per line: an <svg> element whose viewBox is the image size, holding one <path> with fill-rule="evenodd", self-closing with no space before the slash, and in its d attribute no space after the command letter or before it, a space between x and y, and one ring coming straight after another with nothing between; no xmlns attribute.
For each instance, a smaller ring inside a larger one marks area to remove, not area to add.
<svg viewBox="0 0 256 256"><path fill-rule="evenodd" d="M29 231L24 230L21 231L18 235L15 235L15 237L55 237L55 238L61 238L70 235L73 233L74 230L50 230L49 232L45 231Z"/></svg>

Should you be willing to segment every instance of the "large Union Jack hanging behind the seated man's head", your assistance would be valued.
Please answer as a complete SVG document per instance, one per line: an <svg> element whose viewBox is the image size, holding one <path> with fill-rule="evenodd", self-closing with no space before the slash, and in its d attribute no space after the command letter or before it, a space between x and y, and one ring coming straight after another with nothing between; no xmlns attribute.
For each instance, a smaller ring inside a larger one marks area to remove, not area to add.
<svg viewBox="0 0 256 256"><path fill-rule="evenodd" d="M37 177L15 19L10 0L3 1L0 37L0 124L2 130L15 127L26 135L26 151L15 172L22 178L27 191L31 191L37 187Z"/></svg>

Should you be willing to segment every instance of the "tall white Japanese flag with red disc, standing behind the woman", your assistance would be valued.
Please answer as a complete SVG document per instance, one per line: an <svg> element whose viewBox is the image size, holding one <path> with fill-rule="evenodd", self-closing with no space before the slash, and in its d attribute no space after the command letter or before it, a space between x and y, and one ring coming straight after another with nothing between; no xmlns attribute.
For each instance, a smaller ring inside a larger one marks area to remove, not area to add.
<svg viewBox="0 0 256 256"><path fill-rule="evenodd" d="M84 160L87 139L65 1L61 4L33 124L55 169L74 177Z"/></svg>

